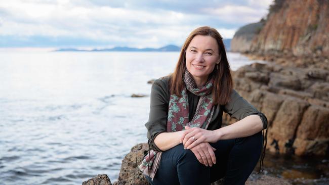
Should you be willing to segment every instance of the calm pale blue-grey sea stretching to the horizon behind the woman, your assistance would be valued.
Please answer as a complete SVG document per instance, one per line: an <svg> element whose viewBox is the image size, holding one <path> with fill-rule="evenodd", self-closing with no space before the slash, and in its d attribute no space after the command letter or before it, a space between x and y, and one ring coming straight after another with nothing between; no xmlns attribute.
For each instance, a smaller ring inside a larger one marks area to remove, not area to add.
<svg viewBox="0 0 329 185"><path fill-rule="evenodd" d="M179 53L0 52L0 184L114 182ZM251 64L228 53L231 68Z"/></svg>

